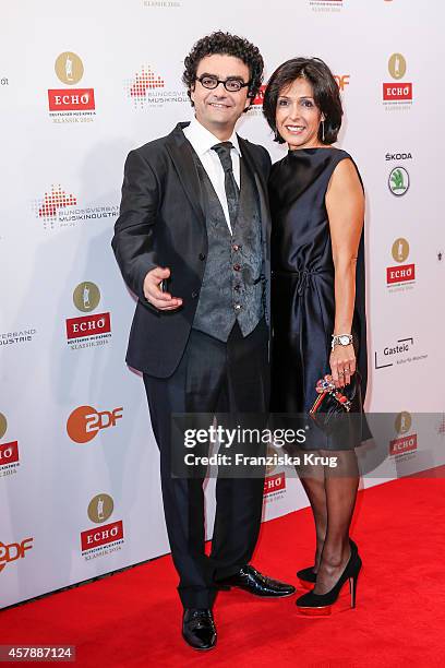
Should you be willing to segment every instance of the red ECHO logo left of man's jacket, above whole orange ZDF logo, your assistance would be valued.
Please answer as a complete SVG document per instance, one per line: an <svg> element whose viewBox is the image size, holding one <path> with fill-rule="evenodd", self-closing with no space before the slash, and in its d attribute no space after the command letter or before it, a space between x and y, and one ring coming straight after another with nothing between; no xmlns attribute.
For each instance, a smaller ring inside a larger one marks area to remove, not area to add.
<svg viewBox="0 0 445 668"><path fill-rule="evenodd" d="M79 350L109 343L110 313L93 313L100 303L99 287L91 281L83 281L74 289L73 303L79 311L87 315L67 319L67 342L70 347Z"/></svg>

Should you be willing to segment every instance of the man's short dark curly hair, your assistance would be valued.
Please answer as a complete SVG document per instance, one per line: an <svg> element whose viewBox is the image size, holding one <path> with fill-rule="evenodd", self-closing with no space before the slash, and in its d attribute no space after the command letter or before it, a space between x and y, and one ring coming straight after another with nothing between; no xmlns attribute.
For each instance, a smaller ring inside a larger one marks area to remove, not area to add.
<svg viewBox="0 0 445 668"><path fill-rule="evenodd" d="M182 81L187 86L192 107L194 103L191 98L191 91L196 81L197 65L203 58L214 56L215 53L233 56L248 65L250 72L248 97L253 99L263 82L264 61L260 49L244 39L244 37L218 31L199 39L184 59L185 70L182 74ZM244 109L244 111L248 111L248 109Z"/></svg>

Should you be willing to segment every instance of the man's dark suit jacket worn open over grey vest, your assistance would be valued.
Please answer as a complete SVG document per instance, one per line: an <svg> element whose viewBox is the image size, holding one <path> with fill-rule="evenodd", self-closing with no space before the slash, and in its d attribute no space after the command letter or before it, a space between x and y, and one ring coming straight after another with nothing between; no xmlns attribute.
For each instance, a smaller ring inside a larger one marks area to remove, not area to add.
<svg viewBox="0 0 445 668"><path fill-rule="evenodd" d="M179 365L192 327L207 255L207 232L200 180L190 143L178 123L167 136L131 151L124 168L120 215L111 241L122 276L137 296L127 362L157 378ZM262 219L266 320L270 303L270 217L267 178L270 158L263 146L239 139L254 175ZM144 296L144 278L168 266L168 291L182 307L159 311Z"/></svg>

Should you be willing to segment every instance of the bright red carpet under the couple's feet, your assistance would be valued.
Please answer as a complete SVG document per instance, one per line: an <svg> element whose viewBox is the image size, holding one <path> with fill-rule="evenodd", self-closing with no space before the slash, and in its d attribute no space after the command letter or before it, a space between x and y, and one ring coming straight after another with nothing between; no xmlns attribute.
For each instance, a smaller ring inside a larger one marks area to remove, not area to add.
<svg viewBox="0 0 445 668"><path fill-rule="evenodd" d="M218 645L200 654L180 636L166 557L4 610L0 644L76 645L76 665L99 668L445 665L445 481L409 478L360 492L352 536L363 559L356 610L344 596L332 617L304 619L293 597L224 592L215 606ZM305 509L263 525L254 564L294 582L312 549Z"/></svg>

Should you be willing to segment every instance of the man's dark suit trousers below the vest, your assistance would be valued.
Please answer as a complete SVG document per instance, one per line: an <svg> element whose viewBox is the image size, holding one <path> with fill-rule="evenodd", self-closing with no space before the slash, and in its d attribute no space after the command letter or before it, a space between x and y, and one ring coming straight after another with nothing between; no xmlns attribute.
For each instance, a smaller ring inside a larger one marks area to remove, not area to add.
<svg viewBox="0 0 445 668"><path fill-rule="evenodd" d="M172 413L257 413L268 408L267 326L243 338L238 323L227 343L192 330L168 379L144 374L152 426L160 450L164 511L184 608L212 608L215 580L252 558L263 502L263 478L218 478L212 553L204 552L203 478L171 476Z"/></svg>

